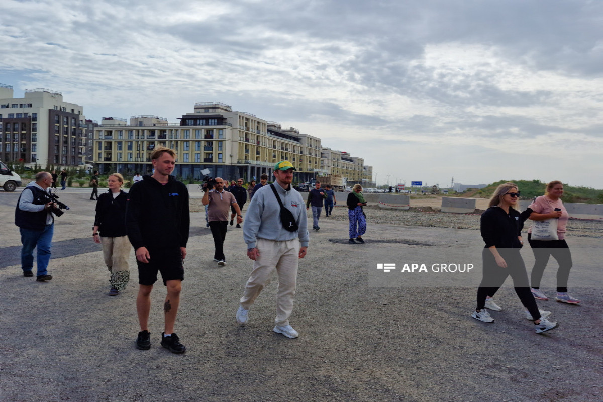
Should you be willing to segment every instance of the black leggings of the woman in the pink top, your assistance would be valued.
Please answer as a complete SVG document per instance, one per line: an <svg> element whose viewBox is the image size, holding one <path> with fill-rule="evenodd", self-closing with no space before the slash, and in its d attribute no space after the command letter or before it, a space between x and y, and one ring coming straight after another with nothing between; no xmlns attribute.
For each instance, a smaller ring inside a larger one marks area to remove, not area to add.
<svg viewBox="0 0 603 402"><path fill-rule="evenodd" d="M528 233L528 243L534 253L534 268L530 275L530 282L534 289L540 289L540 280L545 273L549 257L553 256L559 264L557 270L557 292L567 292L567 279L572 269L572 253L565 240L532 240L532 234Z"/></svg>

